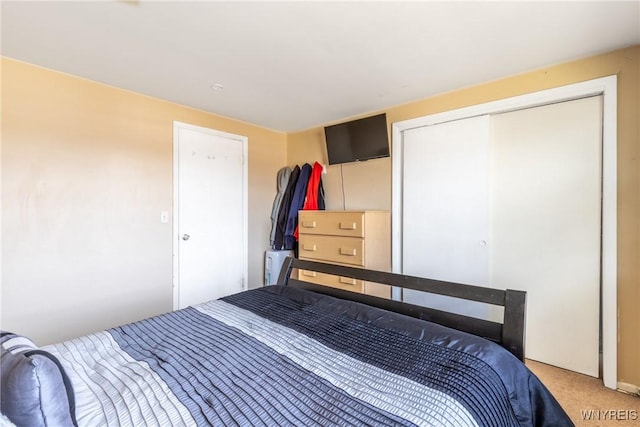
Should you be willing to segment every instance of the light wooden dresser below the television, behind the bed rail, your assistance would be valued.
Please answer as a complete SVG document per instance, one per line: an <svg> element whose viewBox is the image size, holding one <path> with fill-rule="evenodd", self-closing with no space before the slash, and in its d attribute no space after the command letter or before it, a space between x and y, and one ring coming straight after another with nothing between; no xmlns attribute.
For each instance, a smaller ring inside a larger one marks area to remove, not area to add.
<svg viewBox="0 0 640 427"><path fill-rule="evenodd" d="M371 270L391 270L388 211L300 211L298 257ZM391 297L391 287L349 277L300 270L299 280L353 292Z"/></svg>

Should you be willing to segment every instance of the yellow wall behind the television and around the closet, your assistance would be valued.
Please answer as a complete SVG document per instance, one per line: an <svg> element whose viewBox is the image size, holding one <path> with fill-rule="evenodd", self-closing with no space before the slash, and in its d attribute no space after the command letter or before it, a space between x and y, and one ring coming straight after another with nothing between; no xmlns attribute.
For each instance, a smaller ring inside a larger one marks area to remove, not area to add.
<svg viewBox="0 0 640 427"><path fill-rule="evenodd" d="M640 385L640 47L541 68L387 109L389 123L617 74L618 76L618 380ZM425 76L428 78L428 76ZM371 114L381 111L371 112ZM390 131L390 130L389 130ZM324 161L322 128L287 136L287 162ZM327 209L391 208L391 160L328 167ZM568 319L569 320L569 319Z"/></svg>

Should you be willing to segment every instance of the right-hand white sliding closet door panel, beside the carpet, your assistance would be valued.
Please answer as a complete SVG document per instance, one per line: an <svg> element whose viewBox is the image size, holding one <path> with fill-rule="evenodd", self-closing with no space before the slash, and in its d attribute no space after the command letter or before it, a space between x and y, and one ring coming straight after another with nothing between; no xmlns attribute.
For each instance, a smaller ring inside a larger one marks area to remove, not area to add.
<svg viewBox="0 0 640 427"><path fill-rule="evenodd" d="M601 97L592 97L491 119L492 285L527 291L527 358L592 376L599 351L601 117Z"/></svg>

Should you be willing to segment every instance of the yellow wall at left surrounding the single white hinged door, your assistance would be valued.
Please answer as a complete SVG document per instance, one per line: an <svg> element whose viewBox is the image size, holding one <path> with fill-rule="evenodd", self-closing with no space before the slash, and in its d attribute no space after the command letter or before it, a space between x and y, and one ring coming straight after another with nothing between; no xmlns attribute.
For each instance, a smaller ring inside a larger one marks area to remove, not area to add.
<svg viewBox="0 0 640 427"><path fill-rule="evenodd" d="M2 328L47 344L171 310L174 120L248 137L263 283L284 133L3 58Z"/></svg>

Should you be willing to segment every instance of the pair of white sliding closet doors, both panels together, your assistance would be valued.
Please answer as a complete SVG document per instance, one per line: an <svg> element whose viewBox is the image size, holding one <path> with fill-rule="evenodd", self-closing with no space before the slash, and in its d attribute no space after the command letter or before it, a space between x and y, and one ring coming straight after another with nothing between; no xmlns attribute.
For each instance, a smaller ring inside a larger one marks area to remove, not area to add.
<svg viewBox="0 0 640 427"><path fill-rule="evenodd" d="M527 291L526 357L598 376L601 142L600 96L406 130L402 271Z"/></svg>

